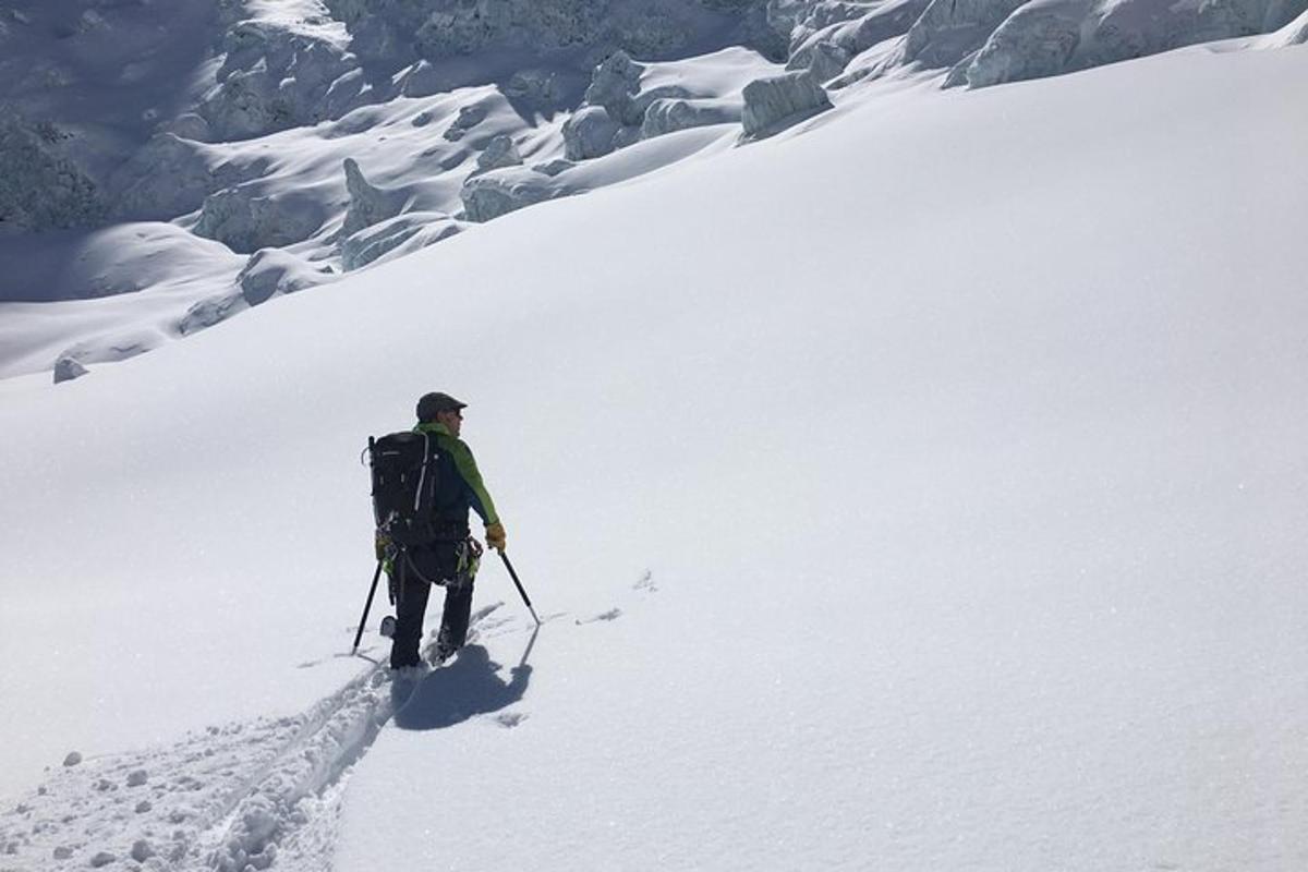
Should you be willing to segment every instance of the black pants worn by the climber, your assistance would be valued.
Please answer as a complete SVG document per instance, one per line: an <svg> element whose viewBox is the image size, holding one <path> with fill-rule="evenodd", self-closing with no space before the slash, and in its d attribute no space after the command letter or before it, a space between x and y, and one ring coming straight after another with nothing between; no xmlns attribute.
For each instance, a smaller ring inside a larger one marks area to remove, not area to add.
<svg viewBox="0 0 1308 872"><path fill-rule="evenodd" d="M411 667L421 662L422 618L433 582L445 580L445 611L437 635L437 658L445 659L463 647L472 614L472 579L454 579L460 543L439 543L395 561L395 637L391 639L391 667ZM443 578L442 578L443 577ZM446 580L449 579L449 580Z"/></svg>

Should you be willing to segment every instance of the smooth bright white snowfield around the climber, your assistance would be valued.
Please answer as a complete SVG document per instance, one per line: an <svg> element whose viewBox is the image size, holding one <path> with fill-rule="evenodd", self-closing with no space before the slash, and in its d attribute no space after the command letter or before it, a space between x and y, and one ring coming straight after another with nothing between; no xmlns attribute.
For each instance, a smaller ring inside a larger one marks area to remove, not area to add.
<svg viewBox="0 0 1308 872"><path fill-rule="evenodd" d="M1305 73L869 89L0 382L0 865L1304 868ZM396 710L432 388L547 621L489 561Z"/></svg>

